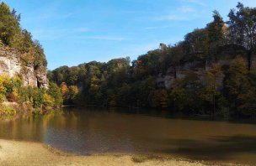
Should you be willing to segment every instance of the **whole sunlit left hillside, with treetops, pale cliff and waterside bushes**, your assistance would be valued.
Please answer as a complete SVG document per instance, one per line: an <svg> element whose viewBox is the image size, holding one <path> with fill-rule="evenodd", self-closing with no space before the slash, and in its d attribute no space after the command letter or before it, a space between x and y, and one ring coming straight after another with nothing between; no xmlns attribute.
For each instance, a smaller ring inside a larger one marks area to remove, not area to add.
<svg viewBox="0 0 256 166"><path fill-rule="evenodd" d="M59 88L46 78L44 49L19 21L20 14L0 3L0 116L45 112L62 103Z"/></svg>

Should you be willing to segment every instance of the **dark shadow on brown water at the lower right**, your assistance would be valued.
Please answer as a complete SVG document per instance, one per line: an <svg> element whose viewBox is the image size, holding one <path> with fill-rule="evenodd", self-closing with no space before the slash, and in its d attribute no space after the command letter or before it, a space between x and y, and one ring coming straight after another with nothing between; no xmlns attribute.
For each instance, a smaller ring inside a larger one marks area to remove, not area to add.
<svg viewBox="0 0 256 166"><path fill-rule="evenodd" d="M256 163L256 137L237 135L210 137L205 140L151 140L160 143L161 153L169 153L195 160ZM156 149L155 149L156 150ZM238 156L238 157L237 157ZM237 158L236 158L237 157Z"/></svg>

